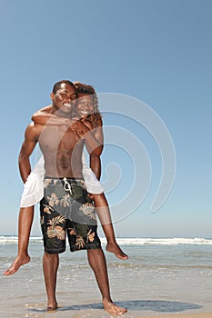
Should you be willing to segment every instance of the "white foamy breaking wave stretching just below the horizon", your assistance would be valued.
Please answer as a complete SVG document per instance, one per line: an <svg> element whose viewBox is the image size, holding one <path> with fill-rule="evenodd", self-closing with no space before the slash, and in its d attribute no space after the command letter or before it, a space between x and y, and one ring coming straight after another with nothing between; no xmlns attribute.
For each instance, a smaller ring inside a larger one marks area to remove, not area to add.
<svg viewBox="0 0 212 318"><path fill-rule="evenodd" d="M212 239L208 238L117 238L120 245L179 245L179 244L207 244L212 245ZM101 238L101 242L106 244L106 238ZM0 236L0 244L18 243L17 236ZM43 243L41 236L31 236L30 243Z"/></svg>

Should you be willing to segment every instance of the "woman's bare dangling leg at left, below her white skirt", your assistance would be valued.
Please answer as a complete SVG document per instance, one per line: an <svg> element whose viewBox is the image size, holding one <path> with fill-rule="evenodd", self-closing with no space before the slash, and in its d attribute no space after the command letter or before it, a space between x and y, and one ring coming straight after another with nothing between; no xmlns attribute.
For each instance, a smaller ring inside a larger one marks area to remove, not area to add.
<svg viewBox="0 0 212 318"><path fill-rule="evenodd" d="M9 276L15 273L20 266L29 263L28 255L29 235L34 218L34 206L20 208L18 216L18 253L14 263L10 265L5 275Z"/></svg>

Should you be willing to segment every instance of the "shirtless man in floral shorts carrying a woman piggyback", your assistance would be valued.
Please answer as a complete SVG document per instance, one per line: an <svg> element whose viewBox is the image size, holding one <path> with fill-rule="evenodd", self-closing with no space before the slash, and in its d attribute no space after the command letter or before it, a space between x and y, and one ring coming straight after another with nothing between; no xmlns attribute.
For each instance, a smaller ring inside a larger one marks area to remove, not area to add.
<svg viewBox="0 0 212 318"><path fill-rule="evenodd" d="M76 89L69 81L54 85L52 113L70 117L76 104ZM77 124L82 133L82 124L75 123L75 132L69 127L29 124L25 141L19 155L19 167L25 182L30 174L30 155L39 143L45 158L45 196L40 203L41 226L45 253L43 268L47 294L47 308L57 308L56 276L59 264L58 253L65 251L68 235L71 251L86 249L88 262L96 275L105 310L112 314L126 313L126 309L112 302L106 259L96 233L96 215L91 199L86 193L82 174L82 151L86 144L89 154L101 153L102 145L92 134L91 127L84 126L84 138L76 138ZM67 209L68 207L68 209ZM71 207L71 208L70 208ZM72 215L71 221L65 217Z"/></svg>

